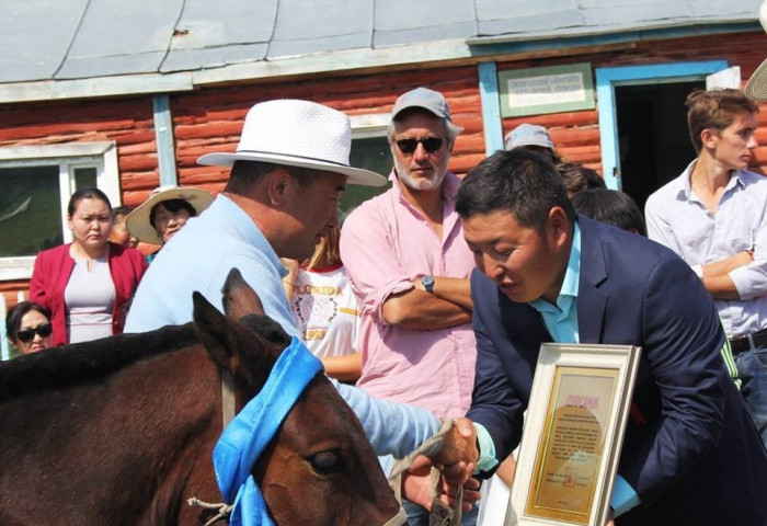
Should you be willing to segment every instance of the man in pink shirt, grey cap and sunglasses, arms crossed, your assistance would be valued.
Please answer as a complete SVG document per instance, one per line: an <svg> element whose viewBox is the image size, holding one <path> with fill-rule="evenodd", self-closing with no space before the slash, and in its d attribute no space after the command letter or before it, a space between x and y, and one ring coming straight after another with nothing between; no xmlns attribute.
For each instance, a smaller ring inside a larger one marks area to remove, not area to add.
<svg viewBox="0 0 767 526"><path fill-rule="evenodd" d="M474 262L455 211L460 180L447 171L460 132L442 93L417 88L397 99L388 132L392 187L355 209L341 235L360 306L357 386L440 419L466 414L477 359ZM411 525L428 524L422 508L405 511Z"/></svg>

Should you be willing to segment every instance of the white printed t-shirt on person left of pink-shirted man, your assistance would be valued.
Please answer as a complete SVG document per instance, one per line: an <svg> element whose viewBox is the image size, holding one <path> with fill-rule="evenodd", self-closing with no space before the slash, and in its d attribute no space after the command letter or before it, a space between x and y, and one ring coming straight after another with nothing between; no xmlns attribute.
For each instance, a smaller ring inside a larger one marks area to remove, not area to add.
<svg viewBox="0 0 767 526"><path fill-rule="evenodd" d="M301 340L314 356L343 356L357 351L359 311L343 266L299 268L290 310Z"/></svg>

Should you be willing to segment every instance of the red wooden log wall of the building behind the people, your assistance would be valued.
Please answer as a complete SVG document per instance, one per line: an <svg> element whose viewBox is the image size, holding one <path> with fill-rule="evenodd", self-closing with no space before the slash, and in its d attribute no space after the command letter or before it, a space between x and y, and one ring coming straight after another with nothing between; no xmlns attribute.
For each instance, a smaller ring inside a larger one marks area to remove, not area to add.
<svg viewBox="0 0 767 526"><path fill-rule="evenodd" d="M765 34L760 32L640 42L627 44L622 49L585 54L563 50L561 56L539 59L502 57L497 70L585 61L597 68L726 59L731 65L741 66L742 78L747 80L767 56L765 42ZM257 81L171 95L180 184L220 192L228 171L198 167L196 160L213 151L234 151L245 113L257 102L278 98L307 99L348 115L362 115L389 112L399 94L419 85L443 92L450 103L454 121L465 128L450 162L453 171L463 174L484 158L478 82L476 65L422 65L409 71ZM523 122L546 126L569 160L600 170L596 110L504 118L504 134ZM758 123L757 139L765 146L756 150L754 169L767 172L767 112L762 112ZM0 146L98 140L115 140L117 144L123 204L136 206L144 202L159 184L150 96L0 105ZM0 293L5 295L9 305L14 305L16 293L25 288L24 281L0 283Z"/></svg>

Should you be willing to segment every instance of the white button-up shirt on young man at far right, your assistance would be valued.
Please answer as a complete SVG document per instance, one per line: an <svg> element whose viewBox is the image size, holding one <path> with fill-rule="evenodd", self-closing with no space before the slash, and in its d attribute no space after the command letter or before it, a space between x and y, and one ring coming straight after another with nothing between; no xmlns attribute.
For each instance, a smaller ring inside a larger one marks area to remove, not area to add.
<svg viewBox="0 0 767 526"><path fill-rule="evenodd" d="M648 198L648 237L665 244L700 276L701 265L743 250L754 261L730 272L741 300L714 300L728 338L767 328L767 179L736 170L712 214L690 187L696 161Z"/></svg>

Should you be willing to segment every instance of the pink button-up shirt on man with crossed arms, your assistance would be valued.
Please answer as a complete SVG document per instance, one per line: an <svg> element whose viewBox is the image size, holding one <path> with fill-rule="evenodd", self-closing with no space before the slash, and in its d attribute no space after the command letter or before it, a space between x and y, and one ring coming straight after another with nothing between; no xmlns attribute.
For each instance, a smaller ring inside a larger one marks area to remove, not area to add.
<svg viewBox="0 0 767 526"><path fill-rule="evenodd" d="M445 175L443 239L393 187L363 203L344 221L341 259L359 300L363 375L357 386L387 400L411 403L440 419L471 404L477 342L471 323L420 331L389 325L384 301L413 288L419 276L469 277L474 260L463 240L455 197L460 180Z"/></svg>

